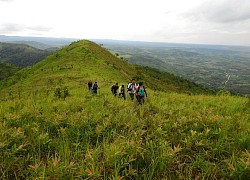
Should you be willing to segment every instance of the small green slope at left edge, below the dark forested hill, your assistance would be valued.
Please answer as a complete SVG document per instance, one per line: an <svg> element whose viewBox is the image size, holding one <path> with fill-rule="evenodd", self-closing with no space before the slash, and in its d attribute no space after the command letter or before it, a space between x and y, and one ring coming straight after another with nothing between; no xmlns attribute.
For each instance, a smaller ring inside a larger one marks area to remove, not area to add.
<svg viewBox="0 0 250 180"><path fill-rule="evenodd" d="M21 69L20 67L17 67L15 65L6 62L0 62L0 81L7 77L12 76L20 69Z"/></svg>

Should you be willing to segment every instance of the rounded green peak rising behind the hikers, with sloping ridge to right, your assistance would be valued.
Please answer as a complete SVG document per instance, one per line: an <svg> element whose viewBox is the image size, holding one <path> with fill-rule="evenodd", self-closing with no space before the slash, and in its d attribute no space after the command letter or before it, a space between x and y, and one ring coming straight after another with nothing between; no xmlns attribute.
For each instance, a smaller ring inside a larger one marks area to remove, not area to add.
<svg viewBox="0 0 250 180"><path fill-rule="evenodd" d="M64 81L72 86L75 82L98 81L100 85L127 83L132 78L144 81L152 90L211 94L211 90L157 69L128 64L112 55L107 49L87 40L74 42L58 50L43 61L20 71L7 84L29 84L32 89L52 86ZM25 83L23 83L25 82ZM53 82L53 83L52 83ZM67 85L67 86L68 86ZM2 85L6 86L6 85Z"/></svg>

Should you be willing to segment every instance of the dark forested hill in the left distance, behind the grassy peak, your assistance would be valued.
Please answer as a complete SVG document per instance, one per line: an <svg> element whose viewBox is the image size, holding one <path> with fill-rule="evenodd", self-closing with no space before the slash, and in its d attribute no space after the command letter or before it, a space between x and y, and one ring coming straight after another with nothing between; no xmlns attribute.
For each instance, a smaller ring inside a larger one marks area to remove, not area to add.
<svg viewBox="0 0 250 180"><path fill-rule="evenodd" d="M31 66L51 53L51 51L36 49L25 44L0 42L0 61L20 67Z"/></svg>

